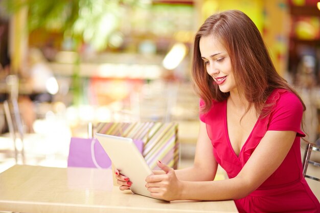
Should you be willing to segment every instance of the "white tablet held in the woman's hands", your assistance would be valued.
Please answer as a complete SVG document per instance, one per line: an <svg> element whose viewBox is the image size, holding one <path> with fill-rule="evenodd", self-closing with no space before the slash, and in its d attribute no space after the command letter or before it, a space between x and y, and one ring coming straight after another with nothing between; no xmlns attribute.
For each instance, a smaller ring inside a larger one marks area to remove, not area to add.
<svg viewBox="0 0 320 213"><path fill-rule="evenodd" d="M135 194L151 197L145 185L146 177L151 175L152 171L133 140L101 133L96 133L96 137L113 165L122 175L129 177L132 182L130 190Z"/></svg>

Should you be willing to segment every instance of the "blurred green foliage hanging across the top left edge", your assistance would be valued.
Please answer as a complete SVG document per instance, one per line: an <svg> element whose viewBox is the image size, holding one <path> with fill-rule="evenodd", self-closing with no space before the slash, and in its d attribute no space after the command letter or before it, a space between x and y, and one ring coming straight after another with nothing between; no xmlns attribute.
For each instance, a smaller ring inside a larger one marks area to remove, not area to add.
<svg viewBox="0 0 320 213"><path fill-rule="evenodd" d="M143 7L146 0L3 0L10 14L28 8L28 28L63 32L102 50L119 30L126 7Z"/></svg>

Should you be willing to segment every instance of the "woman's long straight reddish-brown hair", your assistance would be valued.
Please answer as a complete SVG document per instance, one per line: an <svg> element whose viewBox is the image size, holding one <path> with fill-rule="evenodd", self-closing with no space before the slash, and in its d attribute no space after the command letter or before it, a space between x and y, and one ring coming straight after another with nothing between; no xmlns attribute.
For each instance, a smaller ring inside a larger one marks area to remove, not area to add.
<svg viewBox="0 0 320 213"><path fill-rule="evenodd" d="M221 102L230 96L229 92L219 90L206 71L199 49L202 36L214 36L227 50L236 86L249 102L246 111L254 105L257 114L261 113L262 117L269 114L270 107L262 109L266 99L276 88L287 89L296 94L305 110L298 93L277 73L255 23L239 10L228 10L208 17L195 35L192 77L196 92L205 103L202 112L207 112L212 107L212 100Z"/></svg>

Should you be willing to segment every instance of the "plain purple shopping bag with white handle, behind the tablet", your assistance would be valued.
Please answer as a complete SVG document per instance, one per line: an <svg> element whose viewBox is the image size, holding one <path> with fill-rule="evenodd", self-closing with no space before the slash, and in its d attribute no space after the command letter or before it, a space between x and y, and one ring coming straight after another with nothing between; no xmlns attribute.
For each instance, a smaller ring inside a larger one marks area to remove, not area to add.
<svg viewBox="0 0 320 213"><path fill-rule="evenodd" d="M142 153L143 141L133 141L135 146ZM111 160L102 148L98 139L72 137L67 166L108 169L111 167Z"/></svg>

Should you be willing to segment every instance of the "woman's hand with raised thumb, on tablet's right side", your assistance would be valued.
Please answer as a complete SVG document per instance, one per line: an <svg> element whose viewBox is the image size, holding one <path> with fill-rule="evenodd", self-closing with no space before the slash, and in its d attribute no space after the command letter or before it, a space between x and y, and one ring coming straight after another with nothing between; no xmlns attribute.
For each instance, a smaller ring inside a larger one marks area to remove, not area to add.
<svg viewBox="0 0 320 213"><path fill-rule="evenodd" d="M157 165L163 171L146 178L146 187L151 196L167 201L181 199L182 184L177 179L174 170L159 160Z"/></svg>

